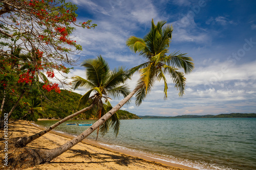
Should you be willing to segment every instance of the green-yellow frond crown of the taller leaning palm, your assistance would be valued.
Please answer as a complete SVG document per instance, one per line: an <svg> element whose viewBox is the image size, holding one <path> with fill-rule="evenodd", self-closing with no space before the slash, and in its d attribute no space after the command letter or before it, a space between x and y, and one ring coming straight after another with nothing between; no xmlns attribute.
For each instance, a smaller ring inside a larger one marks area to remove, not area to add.
<svg viewBox="0 0 256 170"><path fill-rule="evenodd" d="M179 68L183 68L185 74L191 72L194 68L193 59L186 54L174 52L168 54L169 44L172 39L173 27L165 25L166 21L159 21L157 25L152 19L152 27L145 37L138 38L131 36L126 41L126 45L147 61L130 69L131 75L134 72L140 72L138 85L141 88L136 93L136 105L140 105L146 94L151 91L155 81L164 81L164 99L167 99L167 80L165 74L170 75L175 87L179 90L179 95L184 94L185 77Z"/></svg>

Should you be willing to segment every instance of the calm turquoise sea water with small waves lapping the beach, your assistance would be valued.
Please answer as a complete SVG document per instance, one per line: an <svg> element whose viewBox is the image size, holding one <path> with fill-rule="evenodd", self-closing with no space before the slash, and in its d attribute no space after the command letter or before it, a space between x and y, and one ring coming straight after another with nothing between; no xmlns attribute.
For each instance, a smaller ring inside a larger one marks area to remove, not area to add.
<svg viewBox="0 0 256 170"><path fill-rule="evenodd" d="M55 121L56 122L56 121ZM49 127L53 120L36 124ZM69 120L66 123L94 123ZM56 131L79 135L87 126ZM87 139L95 140L96 133ZM256 118L182 118L121 120L118 137L110 131L99 143L198 169L256 169Z"/></svg>

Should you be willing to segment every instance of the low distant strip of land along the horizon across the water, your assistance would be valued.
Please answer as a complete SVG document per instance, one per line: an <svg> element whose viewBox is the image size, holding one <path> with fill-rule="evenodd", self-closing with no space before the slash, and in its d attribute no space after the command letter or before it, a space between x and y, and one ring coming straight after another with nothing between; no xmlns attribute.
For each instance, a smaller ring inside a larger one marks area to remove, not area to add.
<svg viewBox="0 0 256 170"><path fill-rule="evenodd" d="M140 118L231 118L231 117L256 117L256 113L229 113L218 115L180 115L180 116L139 116Z"/></svg>

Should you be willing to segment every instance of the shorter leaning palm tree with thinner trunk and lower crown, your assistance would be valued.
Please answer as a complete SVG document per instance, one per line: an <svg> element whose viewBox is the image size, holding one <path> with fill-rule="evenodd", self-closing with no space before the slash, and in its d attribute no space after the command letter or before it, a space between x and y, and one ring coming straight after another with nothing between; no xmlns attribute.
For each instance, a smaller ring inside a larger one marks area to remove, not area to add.
<svg viewBox="0 0 256 170"><path fill-rule="evenodd" d="M112 95L114 96L114 98L116 98L120 95L126 96L130 93L127 85L121 85L127 79L127 70L124 70L124 68L120 67L111 71L108 63L106 63L101 56L94 60L89 59L84 61L82 63L82 66L86 67L87 80L79 76L75 76L73 78L73 85L74 89L76 89L77 87L91 88L79 100L79 107L85 106L88 103L90 103L90 105L74 114L71 114L59 120L59 122L37 134L25 137L17 137L16 139L14 139L16 147L25 147L28 143L50 132L52 129L66 122L70 118L94 109L95 107L98 108L97 115L98 118L100 118L106 113L106 109L110 110L110 106L103 107L104 105L102 99L105 99L105 102L108 103L108 100L111 99L108 95ZM94 94L90 96L93 92ZM103 126L101 126L100 131L102 132L102 135L107 132L107 130L109 129L109 125L114 128L114 132L117 135L120 125L117 114L113 115L113 117L111 118L111 122L108 121Z"/></svg>

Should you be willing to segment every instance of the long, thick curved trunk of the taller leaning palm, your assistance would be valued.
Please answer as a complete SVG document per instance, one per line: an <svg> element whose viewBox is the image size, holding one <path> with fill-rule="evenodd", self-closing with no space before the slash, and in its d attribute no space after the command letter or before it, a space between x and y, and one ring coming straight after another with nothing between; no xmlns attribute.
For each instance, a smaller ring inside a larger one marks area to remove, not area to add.
<svg viewBox="0 0 256 170"><path fill-rule="evenodd" d="M132 96L140 89L142 85L137 86L129 95L127 95L122 101L120 101L115 107L113 107L108 113L104 114L100 119L97 120L90 128L86 131L73 138L72 140L66 142L58 148L54 148L51 150L33 150L30 151L30 154L33 155L34 160L33 163L42 164L46 162L50 162L52 159L61 155L62 153L68 151L74 145L82 141L84 138L89 136L93 131L98 129L99 126L103 125L106 120L108 120L116 111L118 111L127 101L129 101ZM21 156L21 155L20 155Z"/></svg>

